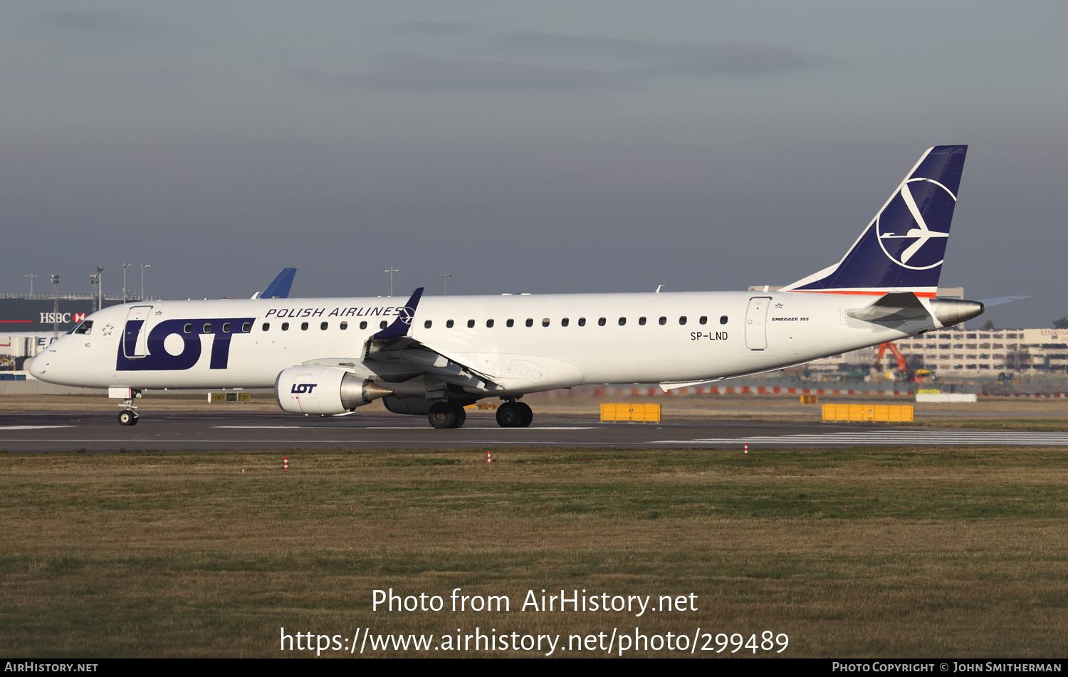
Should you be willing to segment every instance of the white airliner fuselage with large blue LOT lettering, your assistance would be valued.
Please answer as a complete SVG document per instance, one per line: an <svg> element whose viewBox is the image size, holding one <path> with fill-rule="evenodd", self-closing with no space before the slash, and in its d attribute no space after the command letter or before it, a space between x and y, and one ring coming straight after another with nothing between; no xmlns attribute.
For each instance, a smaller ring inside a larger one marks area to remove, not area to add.
<svg viewBox="0 0 1068 677"><path fill-rule="evenodd" d="M408 335L521 394L604 382L739 376L908 333L846 313L873 296L798 293L426 297ZM132 389L272 388L282 369L363 359L404 313L394 298L127 303L92 315L33 364L43 380ZM909 327L909 333L933 329ZM404 379L384 375L380 380Z"/></svg>

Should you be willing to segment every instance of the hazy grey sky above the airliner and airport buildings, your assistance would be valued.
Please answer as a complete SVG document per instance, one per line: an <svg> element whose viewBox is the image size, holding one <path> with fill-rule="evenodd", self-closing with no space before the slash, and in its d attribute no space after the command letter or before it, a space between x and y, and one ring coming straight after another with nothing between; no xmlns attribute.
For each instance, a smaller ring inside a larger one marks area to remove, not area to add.
<svg viewBox="0 0 1068 677"><path fill-rule="evenodd" d="M1068 313L1061 3L27 2L0 23L0 288L743 289L971 145L942 283ZM38 279L38 286L42 280ZM131 285L132 286L132 285Z"/></svg>

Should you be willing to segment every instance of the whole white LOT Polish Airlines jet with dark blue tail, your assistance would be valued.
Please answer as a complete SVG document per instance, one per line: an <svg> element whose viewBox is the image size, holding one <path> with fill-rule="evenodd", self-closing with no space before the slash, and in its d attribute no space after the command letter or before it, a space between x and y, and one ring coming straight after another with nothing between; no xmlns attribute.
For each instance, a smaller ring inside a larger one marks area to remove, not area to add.
<svg viewBox="0 0 1068 677"><path fill-rule="evenodd" d="M501 426L525 427L527 393L668 390L801 364L983 313L936 298L967 149L924 153L842 261L778 292L137 302L94 313L30 373L108 388L123 425L147 389L273 388L290 413L380 397L455 428L484 397L504 400Z"/></svg>

